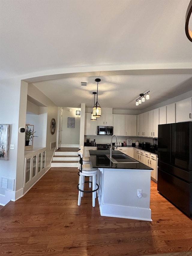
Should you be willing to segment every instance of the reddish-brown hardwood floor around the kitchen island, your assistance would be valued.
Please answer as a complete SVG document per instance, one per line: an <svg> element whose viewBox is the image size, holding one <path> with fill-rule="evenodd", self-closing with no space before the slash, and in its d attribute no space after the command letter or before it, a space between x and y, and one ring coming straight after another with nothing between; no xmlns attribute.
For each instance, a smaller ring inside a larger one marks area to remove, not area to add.
<svg viewBox="0 0 192 256"><path fill-rule="evenodd" d="M0 209L0 255L139 256L192 252L192 219L151 182L153 221L100 215L84 194L77 206L77 168L52 167L16 202ZM122 195L123 196L123 195Z"/></svg>

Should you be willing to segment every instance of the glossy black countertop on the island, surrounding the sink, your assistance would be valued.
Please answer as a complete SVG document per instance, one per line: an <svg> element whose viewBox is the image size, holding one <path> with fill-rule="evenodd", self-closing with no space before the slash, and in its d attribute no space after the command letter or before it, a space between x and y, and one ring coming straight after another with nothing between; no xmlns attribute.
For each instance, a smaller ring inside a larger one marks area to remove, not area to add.
<svg viewBox="0 0 192 256"><path fill-rule="evenodd" d="M134 169L134 170L153 170L151 167L141 163L113 163L107 155L110 155L110 150L89 150L91 163L93 167L111 168L111 169ZM112 151L113 155L122 155L119 150ZM125 154L124 154L125 155ZM133 158L131 158L133 159ZM135 159L134 159L135 160ZM137 160L135 160L137 161Z"/></svg>

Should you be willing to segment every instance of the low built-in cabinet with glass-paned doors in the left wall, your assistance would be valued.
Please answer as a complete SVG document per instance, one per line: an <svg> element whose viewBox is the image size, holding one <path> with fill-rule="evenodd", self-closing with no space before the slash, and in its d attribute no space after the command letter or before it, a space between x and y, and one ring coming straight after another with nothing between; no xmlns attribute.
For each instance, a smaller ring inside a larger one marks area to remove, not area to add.
<svg viewBox="0 0 192 256"><path fill-rule="evenodd" d="M45 149L41 149L25 154L24 187L45 168L45 152Z"/></svg>

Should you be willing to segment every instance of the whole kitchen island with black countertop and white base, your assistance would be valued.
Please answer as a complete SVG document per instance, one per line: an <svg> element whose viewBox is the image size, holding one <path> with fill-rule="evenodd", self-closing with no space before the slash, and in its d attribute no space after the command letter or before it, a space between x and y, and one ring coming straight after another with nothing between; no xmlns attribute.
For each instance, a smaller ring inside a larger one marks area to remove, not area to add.
<svg viewBox="0 0 192 256"><path fill-rule="evenodd" d="M116 161L109 158L109 150L90 150L91 163L98 167L97 191L102 216L151 221L151 167L136 161ZM125 155L112 151L115 155ZM118 162L119 161L119 162ZM142 196L138 196L142 190Z"/></svg>

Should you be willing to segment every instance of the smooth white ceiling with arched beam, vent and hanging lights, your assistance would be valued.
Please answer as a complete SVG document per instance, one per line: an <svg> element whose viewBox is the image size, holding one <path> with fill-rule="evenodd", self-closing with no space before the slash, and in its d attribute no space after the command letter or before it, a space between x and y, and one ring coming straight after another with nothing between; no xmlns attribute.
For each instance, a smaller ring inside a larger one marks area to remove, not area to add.
<svg viewBox="0 0 192 256"><path fill-rule="evenodd" d="M191 91L189 2L1 0L1 79L23 77L60 107L92 107L96 78L99 104L114 109L141 110ZM148 91L150 100L136 106Z"/></svg>

